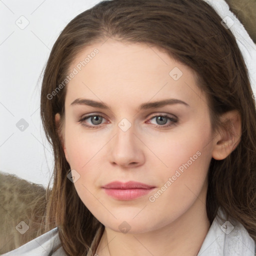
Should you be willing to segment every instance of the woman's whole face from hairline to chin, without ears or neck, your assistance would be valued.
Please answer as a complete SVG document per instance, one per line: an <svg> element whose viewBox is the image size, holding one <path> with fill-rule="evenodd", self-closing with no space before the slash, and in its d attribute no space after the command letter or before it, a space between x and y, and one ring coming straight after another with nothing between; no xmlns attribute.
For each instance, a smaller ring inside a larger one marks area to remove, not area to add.
<svg viewBox="0 0 256 256"><path fill-rule="evenodd" d="M63 148L80 199L103 225L150 231L205 201L212 132L190 68L157 47L109 38L69 70ZM107 188L113 181L148 187Z"/></svg>

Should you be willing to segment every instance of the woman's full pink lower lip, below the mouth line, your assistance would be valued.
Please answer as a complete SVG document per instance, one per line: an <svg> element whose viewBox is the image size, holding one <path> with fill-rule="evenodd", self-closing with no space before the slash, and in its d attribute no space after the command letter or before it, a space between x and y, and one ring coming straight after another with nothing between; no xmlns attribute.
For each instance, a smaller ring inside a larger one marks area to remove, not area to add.
<svg viewBox="0 0 256 256"><path fill-rule="evenodd" d="M148 194L152 188L133 188L133 189L107 189L104 188L106 194L119 200L132 200L140 196Z"/></svg>

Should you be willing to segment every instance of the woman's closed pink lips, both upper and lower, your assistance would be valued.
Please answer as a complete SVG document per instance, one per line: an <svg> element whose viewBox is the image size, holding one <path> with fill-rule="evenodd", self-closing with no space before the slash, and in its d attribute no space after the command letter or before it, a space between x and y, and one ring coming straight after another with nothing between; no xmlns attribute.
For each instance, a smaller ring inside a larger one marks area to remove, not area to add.
<svg viewBox="0 0 256 256"><path fill-rule="evenodd" d="M119 200L135 199L149 193L154 187L155 186L135 181L128 181L125 183L120 181L114 181L102 186L106 194Z"/></svg>

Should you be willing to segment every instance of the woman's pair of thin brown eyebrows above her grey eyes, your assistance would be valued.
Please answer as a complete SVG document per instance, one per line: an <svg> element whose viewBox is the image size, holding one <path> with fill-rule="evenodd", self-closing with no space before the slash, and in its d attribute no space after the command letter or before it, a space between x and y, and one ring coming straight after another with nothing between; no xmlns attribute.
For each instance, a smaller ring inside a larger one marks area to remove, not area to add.
<svg viewBox="0 0 256 256"><path fill-rule="evenodd" d="M76 104L88 105L88 106L92 106L92 107L98 107L98 108L110 110L110 107L107 106L107 104L105 104L104 102L99 102L99 101L95 101L92 99L77 98L70 105L76 105ZM163 99L163 100L159 100L159 101L142 103L139 106L139 110L149 109L149 108L157 108L157 107L161 107L161 106L165 106L165 105L173 105L173 104L183 104L185 106L189 106L186 102L184 102L180 99L168 98L168 99Z"/></svg>

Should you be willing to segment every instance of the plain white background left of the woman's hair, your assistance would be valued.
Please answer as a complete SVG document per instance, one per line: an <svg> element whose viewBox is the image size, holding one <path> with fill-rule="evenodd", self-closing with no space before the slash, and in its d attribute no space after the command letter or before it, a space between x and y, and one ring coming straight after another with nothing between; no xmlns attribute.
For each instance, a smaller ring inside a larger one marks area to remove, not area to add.
<svg viewBox="0 0 256 256"><path fill-rule="evenodd" d="M0 171L48 184L53 156L39 115L40 75L65 25L99 1L0 1ZM15 23L26 20L24 29Z"/></svg>

